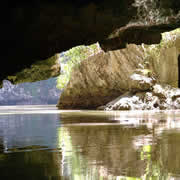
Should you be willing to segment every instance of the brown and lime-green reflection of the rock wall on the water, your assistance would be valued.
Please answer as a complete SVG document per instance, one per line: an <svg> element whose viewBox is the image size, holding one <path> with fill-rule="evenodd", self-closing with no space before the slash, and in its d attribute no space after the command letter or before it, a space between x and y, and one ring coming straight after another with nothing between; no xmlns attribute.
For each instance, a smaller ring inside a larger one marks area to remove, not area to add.
<svg viewBox="0 0 180 180"><path fill-rule="evenodd" d="M78 113L72 120L68 114L61 115L64 176L72 180L179 179L179 112L116 112L106 115L111 120L106 123L100 114L94 116Z"/></svg>

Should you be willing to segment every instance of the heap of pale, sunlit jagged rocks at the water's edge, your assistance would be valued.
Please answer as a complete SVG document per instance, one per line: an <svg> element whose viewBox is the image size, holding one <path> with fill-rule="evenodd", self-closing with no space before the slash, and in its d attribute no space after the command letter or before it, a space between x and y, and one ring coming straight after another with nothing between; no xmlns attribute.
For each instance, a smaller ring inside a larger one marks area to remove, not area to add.
<svg viewBox="0 0 180 180"><path fill-rule="evenodd" d="M126 93L99 110L154 110L179 109L180 89L156 84L152 91Z"/></svg>

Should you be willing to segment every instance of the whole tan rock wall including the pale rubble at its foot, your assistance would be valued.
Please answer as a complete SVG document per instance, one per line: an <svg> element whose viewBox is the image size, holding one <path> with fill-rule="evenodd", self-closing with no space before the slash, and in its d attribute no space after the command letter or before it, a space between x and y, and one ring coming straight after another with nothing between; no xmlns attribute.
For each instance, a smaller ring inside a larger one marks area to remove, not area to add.
<svg viewBox="0 0 180 180"><path fill-rule="evenodd" d="M156 45L153 51L154 46L131 44L125 49L101 53L82 61L72 72L58 107L94 109L100 106L98 109L105 110L179 108L179 90L172 88L178 87L179 81L179 40L180 36L176 36L172 44Z"/></svg>

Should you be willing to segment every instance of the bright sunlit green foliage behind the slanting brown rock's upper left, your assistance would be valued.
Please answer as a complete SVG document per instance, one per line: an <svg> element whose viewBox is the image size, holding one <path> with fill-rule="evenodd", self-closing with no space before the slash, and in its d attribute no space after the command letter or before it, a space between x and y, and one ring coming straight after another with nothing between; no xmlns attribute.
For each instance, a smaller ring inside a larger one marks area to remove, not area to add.
<svg viewBox="0 0 180 180"><path fill-rule="evenodd" d="M92 44L90 46L77 46L64 53L60 58L62 72L57 78L57 88L63 89L70 80L73 67L78 66L80 62L90 56L95 55L100 51L99 44Z"/></svg>

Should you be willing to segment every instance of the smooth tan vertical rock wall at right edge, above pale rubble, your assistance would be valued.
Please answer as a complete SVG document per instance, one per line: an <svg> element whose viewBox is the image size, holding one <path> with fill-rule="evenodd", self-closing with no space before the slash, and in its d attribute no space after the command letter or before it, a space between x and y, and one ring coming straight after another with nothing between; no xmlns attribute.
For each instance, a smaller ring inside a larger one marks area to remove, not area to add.
<svg viewBox="0 0 180 180"><path fill-rule="evenodd" d="M149 67L156 74L159 83L169 84L172 87L178 87L180 71L180 69L178 68L179 55L180 34L173 42L173 44L168 45L167 43L167 46L165 48L159 48L158 58L156 56L151 57L151 60L149 60Z"/></svg>

